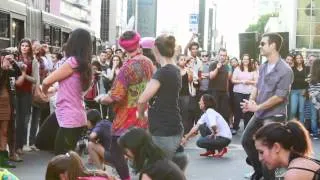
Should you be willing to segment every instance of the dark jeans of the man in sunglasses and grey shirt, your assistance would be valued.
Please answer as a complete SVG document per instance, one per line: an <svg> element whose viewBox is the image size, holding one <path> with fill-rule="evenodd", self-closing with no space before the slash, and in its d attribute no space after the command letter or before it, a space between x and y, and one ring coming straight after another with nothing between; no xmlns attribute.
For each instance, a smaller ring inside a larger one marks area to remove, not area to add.
<svg viewBox="0 0 320 180"><path fill-rule="evenodd" d="M272 180L274 179L274 170L270 171L262 165L259 161L259 155L258 151L255 147L255 143L253 140L253 135L257 132L259 128L261 128L265 123L267 122L283 122L285 121L286 116L283 115L281 117L275 117L275 118L265 118L265 119L258 119L256 116L253 116L246 129L244 130L242 137L241 137L241 144L248 156L249 161L251 162L251 165L253 166L253 169L255 171L255 174L257 176L262 176L266 180Z"/></svg>

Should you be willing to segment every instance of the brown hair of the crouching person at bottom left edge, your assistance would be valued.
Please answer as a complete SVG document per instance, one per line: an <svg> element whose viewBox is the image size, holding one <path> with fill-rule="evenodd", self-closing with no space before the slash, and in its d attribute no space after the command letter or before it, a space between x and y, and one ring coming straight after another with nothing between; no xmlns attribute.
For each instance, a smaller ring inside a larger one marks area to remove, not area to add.
<svg viewBox="0 0 320 180"><path fill-rule="evenodd" d="M65 172L68 172L68 179L88 176L108 177L108 175L102 171L89 171L83 165L81 157L74 151L55 156L49 161L46 180L59 180L60 174Z"/></svg>

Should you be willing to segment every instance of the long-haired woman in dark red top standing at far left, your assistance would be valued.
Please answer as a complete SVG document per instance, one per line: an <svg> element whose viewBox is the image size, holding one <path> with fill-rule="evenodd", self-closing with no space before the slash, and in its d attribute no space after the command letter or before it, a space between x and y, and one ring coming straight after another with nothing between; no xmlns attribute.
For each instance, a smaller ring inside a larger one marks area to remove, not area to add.
<svg viewBox="0 0 320 180"><path fill-rule="evenodd" d="M33 57L32 44L28 39L22 39L18 46L20 58L18 63L22 74L16 81L17 120L16 120L16 146L17 153L22 149L29 151L27 144L27 128L30 121L32 92L35 85L40 83L39 63Z"/></svg>

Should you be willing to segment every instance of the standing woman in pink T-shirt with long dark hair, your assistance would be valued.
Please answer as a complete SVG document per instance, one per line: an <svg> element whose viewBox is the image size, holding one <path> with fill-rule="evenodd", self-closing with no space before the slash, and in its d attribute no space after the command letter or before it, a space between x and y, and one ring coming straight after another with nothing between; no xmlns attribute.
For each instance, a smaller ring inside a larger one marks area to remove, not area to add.
<svg viewBox="0 0 320 180"><path fill-rule="evenodd" d="M56 116L59 130L55 139L55 153L63 154L76 147L76 143L86 126L84 91L92 81L92 42L90 33L84 29L72 31L66 46L66 62L43 80L42 90L59 82Z"/></svg>

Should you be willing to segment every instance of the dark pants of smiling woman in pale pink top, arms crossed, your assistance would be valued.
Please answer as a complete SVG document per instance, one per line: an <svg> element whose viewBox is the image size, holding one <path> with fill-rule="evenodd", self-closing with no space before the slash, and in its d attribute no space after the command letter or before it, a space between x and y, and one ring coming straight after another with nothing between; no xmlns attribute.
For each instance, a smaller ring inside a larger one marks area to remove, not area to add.
<svg viewBox="0 0 320 180"><path fill-rule="evenodd" d="M243 119L244 122L244 129L246 128L249 120L253 116L252 112L242 112L242 108L240 103L243 102L244 99L249 99L250 94L242 94L242 93L234 93L233 94L233 109L234 109L234 122L233 122L233 129L238 130L240 120Z"/></svg>

